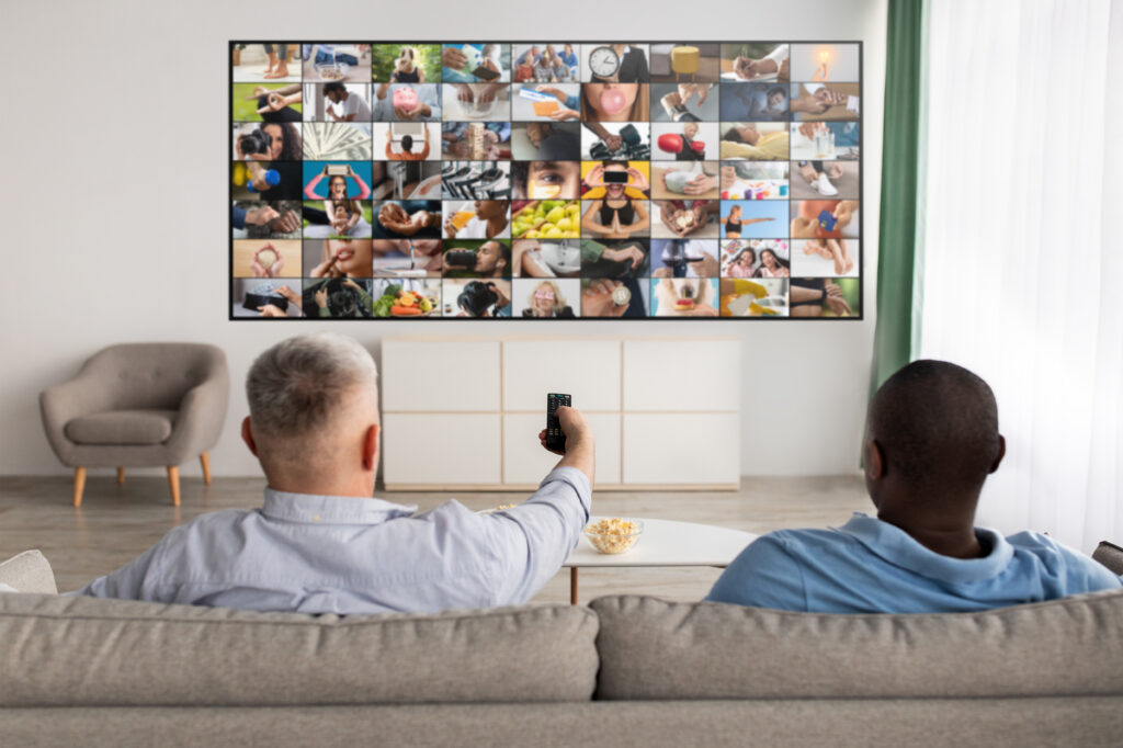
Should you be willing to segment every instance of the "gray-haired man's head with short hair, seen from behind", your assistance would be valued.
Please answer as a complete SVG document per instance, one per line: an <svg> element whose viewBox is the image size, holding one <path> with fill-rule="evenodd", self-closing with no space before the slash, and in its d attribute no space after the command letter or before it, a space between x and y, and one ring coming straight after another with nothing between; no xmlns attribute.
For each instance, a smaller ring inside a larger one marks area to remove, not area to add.
<svg viewBox="0 0 1123 748"><path fill-rule="evenodd" d="M378 372L353 338L314 332L261 354L241 436L281 491L365 495L378 464Z"/></svg>

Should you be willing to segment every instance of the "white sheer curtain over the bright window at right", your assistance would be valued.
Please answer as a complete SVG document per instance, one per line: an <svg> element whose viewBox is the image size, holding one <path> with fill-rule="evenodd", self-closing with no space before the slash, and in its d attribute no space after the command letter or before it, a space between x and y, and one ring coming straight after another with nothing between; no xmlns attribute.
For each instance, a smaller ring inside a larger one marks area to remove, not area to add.
<svg viewBox="0 0 1123 748"><path fill-rule="evenodd" d="M925 6L916 354L997 395L977 523L1123 541L1123 3Z"/></svg>

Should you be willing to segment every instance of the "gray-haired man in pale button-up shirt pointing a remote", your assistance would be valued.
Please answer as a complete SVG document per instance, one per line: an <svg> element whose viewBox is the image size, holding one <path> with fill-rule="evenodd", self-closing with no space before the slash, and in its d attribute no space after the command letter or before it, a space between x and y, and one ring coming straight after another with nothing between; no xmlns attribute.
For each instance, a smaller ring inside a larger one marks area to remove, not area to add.
<svg viewBox="0 0 1123 748"><path fill-rule="evenodd" d="M77 594L309 613L435 612L522 603L553 577L588 520L593 436L558 410L566 448L527 501L476 514L372 499L377 372L351 338L302 335L246 377L241 436L265 504L203 514ZM539 435L545 447L545 432Z"/></svg>

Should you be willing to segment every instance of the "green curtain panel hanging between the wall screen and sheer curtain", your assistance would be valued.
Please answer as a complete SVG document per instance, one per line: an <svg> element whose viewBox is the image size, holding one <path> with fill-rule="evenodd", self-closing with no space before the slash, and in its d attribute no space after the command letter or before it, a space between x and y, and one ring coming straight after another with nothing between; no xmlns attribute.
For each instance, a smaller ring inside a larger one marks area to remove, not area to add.
<svg viewBox="0 0 1123 748"><path fill-rule="evenodd" d="M882 150L877 328L870 394L907 364L913 352L917 174L921 165L921 69L924 3L889 0L886 24L885 128Z"/></svg>

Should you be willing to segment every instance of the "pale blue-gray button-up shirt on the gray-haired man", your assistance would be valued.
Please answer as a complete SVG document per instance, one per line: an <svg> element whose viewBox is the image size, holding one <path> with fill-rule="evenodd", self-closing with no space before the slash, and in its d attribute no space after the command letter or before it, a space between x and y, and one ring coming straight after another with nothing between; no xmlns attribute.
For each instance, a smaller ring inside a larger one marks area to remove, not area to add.
<svg viewBox="0 0 1123 748"><path fill-rule="evenodd" d="M302 613L520 604L577 545L591 501L575 467L492 514L266 489L263 508L198 517L73 594Z"/></svg>

